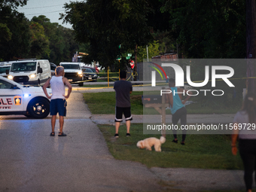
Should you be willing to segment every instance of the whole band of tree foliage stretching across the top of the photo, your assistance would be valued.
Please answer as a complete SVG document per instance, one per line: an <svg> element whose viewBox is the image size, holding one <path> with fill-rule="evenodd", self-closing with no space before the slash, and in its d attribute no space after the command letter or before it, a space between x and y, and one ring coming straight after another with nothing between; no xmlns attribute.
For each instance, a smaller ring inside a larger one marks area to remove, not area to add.
<svg viewBox="0 0 256 192"><path fill-rule="evenodd" d="M175 51L177 45L178 53L188 58L245 57L242 0L70 2L61 18L74 30L50 23L43 15L27 20L17 12L26 2L0 0L0 59L37 56L58 64L71 61L73 54L81 51L89 53L84 62L98 61L101 66L122 69L127 61L122 58L118 62L117 55L133 53L141 61L146 58L147 44L152 46L152 56ZM40 28L37 41L32 39L32 25Z"/></svg>

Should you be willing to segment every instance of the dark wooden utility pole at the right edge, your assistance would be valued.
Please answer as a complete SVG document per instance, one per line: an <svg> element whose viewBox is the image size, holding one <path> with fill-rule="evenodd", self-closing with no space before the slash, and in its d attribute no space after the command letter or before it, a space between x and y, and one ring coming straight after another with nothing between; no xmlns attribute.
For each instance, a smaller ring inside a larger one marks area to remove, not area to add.
<svg viewBox="0 0 256 192"><path fill-rule="evenodd" d="M246 88L248 92L256 93L256 2L246 0Z"/></svg>

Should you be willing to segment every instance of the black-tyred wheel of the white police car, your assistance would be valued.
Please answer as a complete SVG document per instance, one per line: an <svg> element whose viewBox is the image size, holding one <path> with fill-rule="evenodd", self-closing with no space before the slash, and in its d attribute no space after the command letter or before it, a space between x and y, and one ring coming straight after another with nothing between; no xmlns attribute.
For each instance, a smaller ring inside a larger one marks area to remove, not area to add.
<svg viewBox="0 0 256 192"><path fill-rule="evenodd" d="M44 98L35 98L29 102L28 111L36 119L45 118L50 112L50 102Z"/></svg>

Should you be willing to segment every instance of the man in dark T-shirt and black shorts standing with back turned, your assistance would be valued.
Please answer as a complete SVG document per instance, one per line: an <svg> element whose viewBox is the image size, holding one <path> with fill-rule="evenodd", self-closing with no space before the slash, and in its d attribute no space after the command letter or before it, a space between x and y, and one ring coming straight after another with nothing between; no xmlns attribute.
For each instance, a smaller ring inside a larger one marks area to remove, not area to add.
<svg viewBox="0 0 256 192"><path fill-rule="evenodd" d="M126 120L126 136L130 136L130 122L133 120L131 114L130 94L133 91L133 86L130 81L126 81L126 72L120 71L120 81L114 82L116 108L115 108L115 134L118 138L118 130L120 122L123 121L123 115Z"/></svg>

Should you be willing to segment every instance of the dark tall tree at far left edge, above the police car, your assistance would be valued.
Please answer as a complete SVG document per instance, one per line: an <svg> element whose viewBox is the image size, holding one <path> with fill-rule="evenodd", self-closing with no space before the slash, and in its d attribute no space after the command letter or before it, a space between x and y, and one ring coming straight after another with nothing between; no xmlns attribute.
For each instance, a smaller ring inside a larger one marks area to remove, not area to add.
<svg viewBox="0 0 256 192"><path fill-rule="evenodd" d="M17 12L26 0L0 0L0 59L11 60L28 56L31 34L28 20Z"/></svg>

